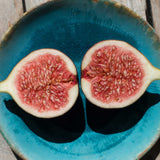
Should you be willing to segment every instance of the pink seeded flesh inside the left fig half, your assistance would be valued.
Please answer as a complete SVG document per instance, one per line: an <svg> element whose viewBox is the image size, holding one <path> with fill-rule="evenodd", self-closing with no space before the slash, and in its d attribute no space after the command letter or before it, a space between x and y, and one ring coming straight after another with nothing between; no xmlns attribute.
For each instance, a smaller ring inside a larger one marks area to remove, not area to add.
<svg viewBox="0 0 160 160"><path fill-rule="evenodd" d="M44 54L27 62L15 82L21 101L43 112L65 107L68 90L77 84L77 79L61 57Z"/></svg>

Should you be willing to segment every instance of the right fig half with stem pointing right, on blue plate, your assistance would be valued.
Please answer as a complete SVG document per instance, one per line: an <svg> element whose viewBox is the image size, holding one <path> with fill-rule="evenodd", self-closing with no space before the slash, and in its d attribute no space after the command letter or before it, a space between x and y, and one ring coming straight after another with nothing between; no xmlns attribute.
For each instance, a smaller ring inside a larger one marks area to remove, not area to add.
<svg viewBox="0 0 160 160"><path fill-rule="evenodd" d="M102 108L122 108L134 103L160 70L126 42L101 41L85 54L81 87L87 99Z"/></svg>

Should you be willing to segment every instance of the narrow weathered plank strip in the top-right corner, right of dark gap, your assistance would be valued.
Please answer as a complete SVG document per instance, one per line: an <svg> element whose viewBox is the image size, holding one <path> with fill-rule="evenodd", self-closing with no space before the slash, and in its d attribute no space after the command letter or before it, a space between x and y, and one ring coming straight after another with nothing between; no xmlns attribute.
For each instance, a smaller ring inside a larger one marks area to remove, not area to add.
<svg viewBox="0 0 160 160"><path fill-rule="evenodd" d="M160 36L160 0L151 0L153 26Z"/></svg>

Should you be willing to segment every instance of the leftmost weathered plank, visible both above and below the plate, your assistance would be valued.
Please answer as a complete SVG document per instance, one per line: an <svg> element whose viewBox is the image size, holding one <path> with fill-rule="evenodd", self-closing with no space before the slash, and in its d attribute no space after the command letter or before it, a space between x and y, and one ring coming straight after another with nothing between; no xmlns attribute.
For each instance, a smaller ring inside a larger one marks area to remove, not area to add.
<svg viewBox="0 0 160 160"><path fill-rule="evenodd" d="M0 0L0 39L23 14L21 0ZM0 160L16 160L9 145L0 134Z"/></svg>

